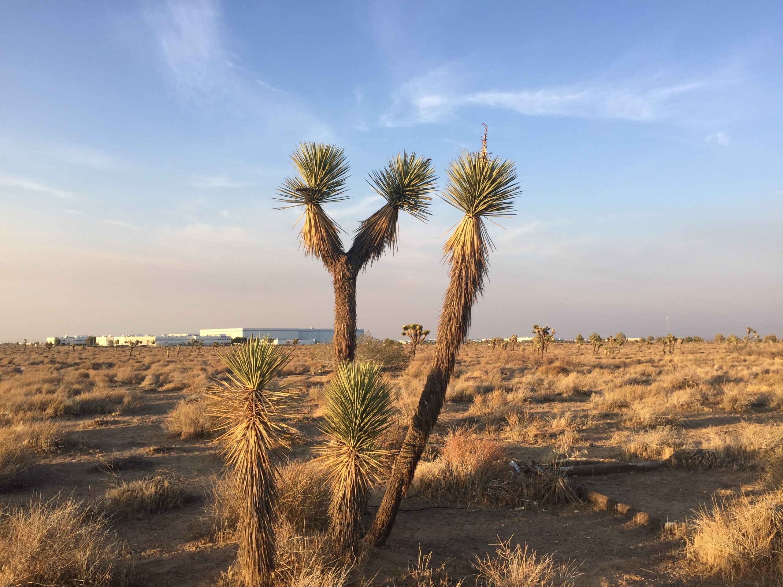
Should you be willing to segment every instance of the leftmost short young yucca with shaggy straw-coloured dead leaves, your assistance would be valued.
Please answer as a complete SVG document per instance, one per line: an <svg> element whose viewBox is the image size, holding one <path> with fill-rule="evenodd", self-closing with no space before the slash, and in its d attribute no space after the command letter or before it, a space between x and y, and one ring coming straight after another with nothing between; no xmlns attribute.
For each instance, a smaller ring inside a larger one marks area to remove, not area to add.
<svg viewBox="0 0 783 587"><path fill-rule="evenodd" d="M290 387L274 384L290 361L290 352L269 339L254 338L233 346L220 358L229 381L207 390L210 412L218 419L216 439L239 492L242 510L237 525L238 559L247 585L271 585L275 563L276 468L272 455L289 447L294 430L280 423Z"/></svg>

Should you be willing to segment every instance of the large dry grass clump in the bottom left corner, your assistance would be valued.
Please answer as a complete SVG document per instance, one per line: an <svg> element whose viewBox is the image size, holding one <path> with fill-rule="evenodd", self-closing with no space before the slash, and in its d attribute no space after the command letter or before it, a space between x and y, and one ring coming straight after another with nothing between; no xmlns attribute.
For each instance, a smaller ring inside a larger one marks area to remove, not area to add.
<svg viewBox="0 0 783 587"><path fill-rule="evenodd" d="M106 519L73 499L2 511L0 553L2 587L129 584Z"/></svg>

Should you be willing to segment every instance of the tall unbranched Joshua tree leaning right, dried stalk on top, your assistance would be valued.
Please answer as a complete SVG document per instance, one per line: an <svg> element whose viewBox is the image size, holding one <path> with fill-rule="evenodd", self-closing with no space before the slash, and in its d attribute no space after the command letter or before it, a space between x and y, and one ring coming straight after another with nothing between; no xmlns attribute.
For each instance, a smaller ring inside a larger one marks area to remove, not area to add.
<svg viewBox="0 0 783 587"><path fill-rule="evenodd" d="M486 127L485 127L486 129ZM449 263L449 286L438 319L438 339L419 405L395 458L381 506L366 535L366 542L383 546L391 532L399 504L413 481L413 474L438 421L456 353L467 336L471 310L482 294L493 243L484 218L508 217L514 197L520 193L515 164L489 157L486 131L479 153L464 151L446 171L443 199L464 213L443 247Z"/></svg>

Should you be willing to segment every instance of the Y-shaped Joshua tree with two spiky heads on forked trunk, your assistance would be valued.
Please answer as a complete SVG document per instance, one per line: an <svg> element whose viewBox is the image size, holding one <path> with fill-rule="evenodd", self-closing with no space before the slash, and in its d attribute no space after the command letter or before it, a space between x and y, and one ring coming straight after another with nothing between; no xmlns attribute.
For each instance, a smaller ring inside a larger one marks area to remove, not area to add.
<svg viewBox="0 0 783 587"><path fill-rule="evenodd" d="M368 183L385 203L361 221L350 249L345 251L340 227L324 207L347 200L345 181L348 161L334 145L301 143L291 155L297 171L278 188L276 201L299 207L304 221L299 232L305 254L321 261L334 286L334 362L352 361L356 348L356 278L384 254L397 247L399 212L426 221L430 194L436 189L435 171L429 159L416 153L398 153L381 171L370 173ZM300 218L301 218L300 217Z"/></svg>

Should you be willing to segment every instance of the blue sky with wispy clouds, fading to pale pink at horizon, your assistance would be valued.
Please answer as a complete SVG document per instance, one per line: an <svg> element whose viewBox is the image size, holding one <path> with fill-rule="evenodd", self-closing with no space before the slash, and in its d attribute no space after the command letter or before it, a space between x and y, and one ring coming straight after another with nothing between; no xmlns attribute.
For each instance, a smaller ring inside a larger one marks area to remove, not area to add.
<svg viewBox="0 0 783 587"><path fill-rule="evenodd" d="M348 231L399 150L517 161L471 336L783 334L780 2L3 2L0 340L323 327L272 196L345 147ZM435 326L436 201L359 277L359 326ZM433 328L434 330L434 328Z"/></svg>

